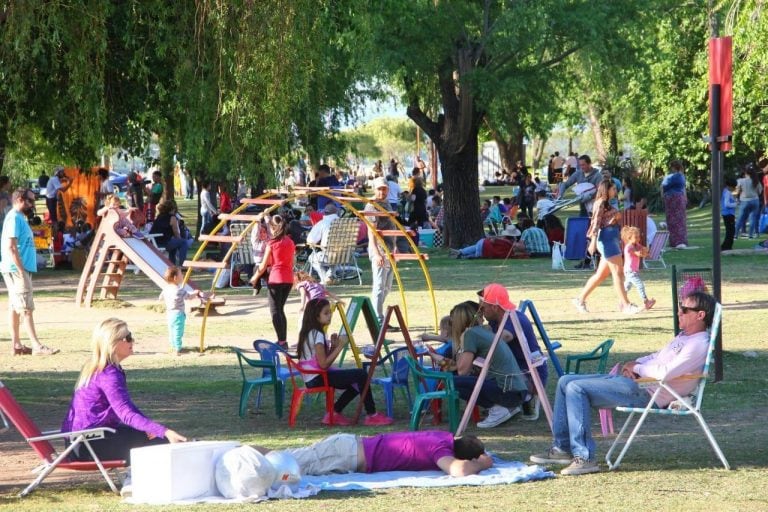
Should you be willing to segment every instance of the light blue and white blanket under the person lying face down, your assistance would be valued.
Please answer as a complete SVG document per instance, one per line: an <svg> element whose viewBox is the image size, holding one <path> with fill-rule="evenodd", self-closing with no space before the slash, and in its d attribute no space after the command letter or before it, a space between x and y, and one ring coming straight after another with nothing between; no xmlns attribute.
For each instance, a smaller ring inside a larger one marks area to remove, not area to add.
<svg viewBox="0 0 768 512"><path fill-rule="evenodd" d="M301 486L292 492L288 486L279 491L270 491L269 497L255 499L226 499L221 496L207 496L178 500L175 505L194 503L254 503L267 499L307 498L320 491L372 491L393 487L453 487L458 485L502 485L552 478L555 474L541 466L529 466L522 462L505 461L493 456L493 467L481 474L463 477L448 476L442 471L386 471L382 473L345 473L323 476L303 476ZM127 498L126 503L138 504Z"/></svg>

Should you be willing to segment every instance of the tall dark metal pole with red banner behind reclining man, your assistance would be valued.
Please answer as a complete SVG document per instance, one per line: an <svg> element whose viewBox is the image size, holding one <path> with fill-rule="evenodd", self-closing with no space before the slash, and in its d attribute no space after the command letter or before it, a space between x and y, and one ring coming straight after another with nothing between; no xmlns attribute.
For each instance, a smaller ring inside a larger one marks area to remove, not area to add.
<svg viewBox="0 0 768 512"><path fill-rule="evenodd" d="M709 91L710 110L709 148L711 150L711 180L712 183L712 293L722 304L720 261L720 196L722 195L722 157L720 151L720 84L713 84ZM715 341L715 382L723 380L723 329Z"/></svg>

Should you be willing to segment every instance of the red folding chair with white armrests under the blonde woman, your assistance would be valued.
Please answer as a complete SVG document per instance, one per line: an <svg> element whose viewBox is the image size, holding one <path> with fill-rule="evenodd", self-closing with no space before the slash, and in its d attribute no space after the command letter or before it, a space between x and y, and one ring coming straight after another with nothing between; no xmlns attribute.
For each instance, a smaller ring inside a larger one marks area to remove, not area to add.
<svg viewBox="0 0 768 512"><path fill-rule="evenodd" d="M24 497L30 492L34 491L38 485L45 480L45 477L50 475L54 469L70 469L73 471L99 471L107 481L109 488L112 492L117 493L117 487L115 482L107 473L108 469L124 468L126 467L126 461L124 460L100 460L96 453L91 448L90 441L98 439L104 439L106 432L114 433L114 429L99 427L91 428L87 430L78 430L75 432L61 432L54 430L50 432L41 432L37 425L21 408L19 403L13 397L11 392L6 388L2 381L0 381L0 412L2 415L7 416L14 424L19 433L24 437L35 453L42 460L42 464L38 466L33 472L39 473L37 478L27 486L26 489L21 491L20 497ZM7 423L6 423L7 425ZM61 453L57 452L51 444L51 441L69 441L70 445ZM71 462L69 461L69 455L78 447L85 446L93 457L93 462Z"/></svg>

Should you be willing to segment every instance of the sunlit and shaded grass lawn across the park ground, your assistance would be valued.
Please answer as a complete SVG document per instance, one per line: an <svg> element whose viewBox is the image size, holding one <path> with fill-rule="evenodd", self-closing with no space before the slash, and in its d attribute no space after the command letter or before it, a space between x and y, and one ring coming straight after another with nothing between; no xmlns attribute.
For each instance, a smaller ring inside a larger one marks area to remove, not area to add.
<svg viewBox="0 0 768 512"><path fill-rule="evenodd" d="M508 192L489 190L494 194ZM180 201L191 214L191 201ZM700 249L670 251L668 263L680 267L711 265L711 212L690 210L690 245ZM193 218L188 216L188 218ZM736 248L748 248L754 241L739 240ZM440 490L400 488L371 493L321 493L309 500L280 500L253 507L263 510L768 510L768 453L764 423L768 417L768 332L765 255L723 257L723 345L724 381L710 383L704 412L713 434L734 468L725 471L711 451L695 420L651 418L635 441L617 472L603 471L583 477L558 477L542 482L490 486L454 487ZM367 295L370 271L362 262L364 284L334 287L342 297ZM418 266L402 262L401 271L408 303L412 335L432 330L432 310ZM429 269L434 283L439 315L454 304L475 299L475 292L491 281L503 283L514 302L532 299L550 337L560 340L561 360L568 353L583 352L606 338L616 341L610 364L656 350L672 336L670 271L645 271L642 276L649 295L657 299L653 310L635 316L616 312L616 298L608 283L592 297L591 313L579 315L570 303L587 279L586 273L557 272L546 259L452 260L445 250L431 250ZM74 304L74 272L44 271L35 277L36 320L44 343L61 348L51 358L11 357L5 327L0 328L0 380L16 395L43 429L57 428L67 410L77 372L89 352L90 331L100 320L117 316L128 321L138 340L137 354L125 362L135 402L153 419L197 439L236 439L272 447L297 446L320 439L335 430L320 425L319 403L302 409L296 428L287 428L287 419L274 414L271 390L267 389L259 411L251 407L247 417L237 415L240 375L229 346L250 348L257 338L273 339L266 298L252 297L250 291L225 290L227 306L223 315L210 317L204 354L190 350L182 357L167 354L165 315L157 307L159 291L143 276L130 276L121 290L121 301L79 309ZM198 281L205 283L204 275ZM208 278L209 279L209 278ZM210 282L210 281L208 281ZM352 283L349 281L348 283ZM639 302L636 292L630 299ZM6 297L0 295L0 301ZM390 295L392 304L398 294ZM5 304L0 304L0 308ZM292 296L289 337L297 334L298 297ZM5 325L5 324L4 324ZM198 343L201 319L190 316L185 343ZM370 342L359 327L358 343ZM397 339L397 336L394 336ZM756 357L755 357L756 356ZM551 368L551 367L550 367ZM554 373L553 370L551 370ZM550 378L550 396L555 379ZM375 390L377 404L383 397ZM354 405L354 404L353 404ZM287 408L286 408L287 414ZM396 395L396 423L390 430L408 428L404 400ZM619 427L623 415L614 414ZM445 428L445 425L442 425ZM599 435L598 457L602 460L611 439ZM352 427L358 434L374 429ZM537 422L513 419L482 431L470 426L489 449L508 459L527 460L549 446L550 434L542 417ZM0 510L135 510L120 502L97 477L67 472L54 473L28 498L17 493L32 476L34 455L15 429L0 434ZM161 507L152 507L152 510ZM197 506L195 510L240 510L242 506ZM162 509L181 509L162 507Z"/></svg>

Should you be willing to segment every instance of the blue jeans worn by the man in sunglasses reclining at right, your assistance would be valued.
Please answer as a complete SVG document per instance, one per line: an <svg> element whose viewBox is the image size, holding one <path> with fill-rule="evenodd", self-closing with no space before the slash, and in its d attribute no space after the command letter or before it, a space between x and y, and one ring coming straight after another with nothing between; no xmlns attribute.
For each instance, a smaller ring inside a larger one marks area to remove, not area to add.
<svg viewBox="0 0 768 512"><path fill-rule="evenodd" d="M635 381L620 375L563 375L555 392L554 445L574 457L595 460L590 409L645 407L650 399Z"/></svg>

